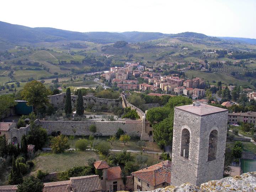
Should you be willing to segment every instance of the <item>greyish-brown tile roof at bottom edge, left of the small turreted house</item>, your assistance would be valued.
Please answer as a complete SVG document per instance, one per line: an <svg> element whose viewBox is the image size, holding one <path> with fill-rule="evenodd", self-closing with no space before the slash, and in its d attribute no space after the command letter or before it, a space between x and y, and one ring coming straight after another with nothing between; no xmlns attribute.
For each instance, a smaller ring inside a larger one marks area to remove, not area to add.
<svg viewBox="0 0 256 192"><path fill-rule="evenodd" d="M98 175L87 175L81 177L70 177L72 185L76 187L76 192L101 191L101 181Z"/></svg>

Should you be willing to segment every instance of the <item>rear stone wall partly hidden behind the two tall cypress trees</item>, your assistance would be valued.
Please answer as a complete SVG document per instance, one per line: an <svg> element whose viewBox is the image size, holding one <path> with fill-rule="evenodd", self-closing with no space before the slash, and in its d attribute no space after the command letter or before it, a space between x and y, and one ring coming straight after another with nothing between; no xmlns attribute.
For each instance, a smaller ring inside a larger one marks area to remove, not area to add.
<svg viewBox="0 0 256 192"><path fill-rule="evenodd" d="M75 106L75 102L78 96L76 95L71 95L71 103L72 107ZM57 95L50 95L48 96L50 103L54 107L58 108L63 108L65 105L65 98L66 98L66 93L61 93ZM105 98L98 98L95 96L83 96L84 99L84 107L86 108L87 105L93 104L93 105L116 105L119 106L121 105L121 99L105 99Z"/></svg>

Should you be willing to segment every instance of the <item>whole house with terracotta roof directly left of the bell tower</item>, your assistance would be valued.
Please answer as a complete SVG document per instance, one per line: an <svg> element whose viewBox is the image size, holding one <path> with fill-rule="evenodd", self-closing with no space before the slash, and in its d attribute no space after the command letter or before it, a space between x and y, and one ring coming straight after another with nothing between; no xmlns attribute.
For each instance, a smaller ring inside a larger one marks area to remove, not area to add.
<svg viewBox="0 0 256 192"><path fill-rule="evenodd" d="M153 191L171 183L171 161L166 160L132 173L134 190Z"/></svg>

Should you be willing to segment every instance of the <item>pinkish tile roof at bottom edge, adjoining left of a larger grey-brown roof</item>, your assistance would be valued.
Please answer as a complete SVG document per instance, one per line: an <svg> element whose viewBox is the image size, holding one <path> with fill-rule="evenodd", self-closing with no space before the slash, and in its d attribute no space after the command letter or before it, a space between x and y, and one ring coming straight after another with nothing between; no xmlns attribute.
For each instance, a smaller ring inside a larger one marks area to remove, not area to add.
<svg viewBox="0 0 256 192"><path fill-rule="evenodd" d="M43 192L68 192L70 184L70 180L44 183Z"/></svg>

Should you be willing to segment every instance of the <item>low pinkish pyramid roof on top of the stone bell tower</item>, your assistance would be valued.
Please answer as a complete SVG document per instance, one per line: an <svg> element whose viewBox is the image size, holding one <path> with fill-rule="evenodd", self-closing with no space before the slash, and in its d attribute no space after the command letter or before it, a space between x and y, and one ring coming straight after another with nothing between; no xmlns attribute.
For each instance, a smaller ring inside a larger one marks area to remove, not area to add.
<svg viewBox="0 0 256 192"><path fill-rule="evenodd" d="M191 105L178 106L175 108L182 110L182 111L194 113L199 116L204 116L204 115L211 114L211 113L219 113L219 112L223 112L223 111L228 111L226 109L207 105L204 103L193 103Z"/></svg>

